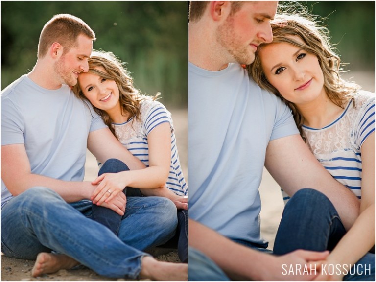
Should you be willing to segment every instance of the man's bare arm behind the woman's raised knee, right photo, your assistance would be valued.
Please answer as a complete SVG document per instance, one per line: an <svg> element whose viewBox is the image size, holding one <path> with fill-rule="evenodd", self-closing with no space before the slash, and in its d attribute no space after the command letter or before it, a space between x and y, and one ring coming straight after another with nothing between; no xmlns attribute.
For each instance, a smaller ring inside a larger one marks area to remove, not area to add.
<svg viewBox="0 0 376 282"><path fill-rule="evenodd" d="M299 135L270 141L265 167L289 196L301 188L324 193L338 211L346 230L358 217L360 202L357 197L326 171Z"/></svg>

